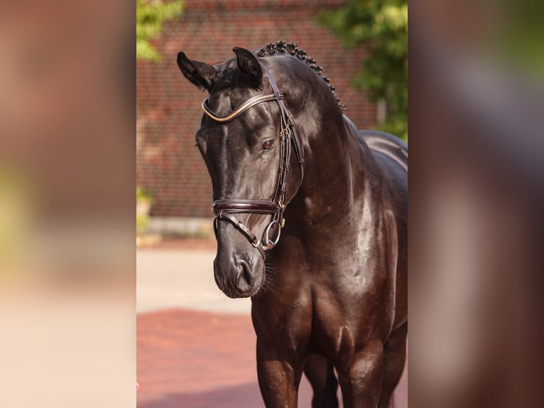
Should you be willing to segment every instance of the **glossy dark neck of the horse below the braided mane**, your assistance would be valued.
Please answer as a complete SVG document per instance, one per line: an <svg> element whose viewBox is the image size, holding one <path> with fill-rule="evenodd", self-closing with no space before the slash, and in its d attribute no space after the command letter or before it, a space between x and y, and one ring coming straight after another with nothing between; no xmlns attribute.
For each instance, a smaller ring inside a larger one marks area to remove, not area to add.
<svg viewBox="0 0 544 408"><path fill-rule="evenodd" d="M358 216L363 195L368 200L380 199L381 172L369 146L357 136L351 121L345 121L321 78L300 70L300 61L290 61L283 68L281 79L292 102L295 125L303 130L306 151L305 176L289 212L296 212L293 218L298 220L337 223L344 215Z"/></svg>

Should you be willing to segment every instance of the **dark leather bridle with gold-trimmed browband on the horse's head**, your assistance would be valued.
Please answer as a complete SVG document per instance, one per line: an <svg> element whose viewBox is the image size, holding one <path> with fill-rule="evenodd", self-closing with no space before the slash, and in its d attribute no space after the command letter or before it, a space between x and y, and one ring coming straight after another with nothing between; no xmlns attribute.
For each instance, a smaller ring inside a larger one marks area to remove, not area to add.
<svg viewBox="0 0 544 408"><path fill-rule="evenodd" d="M216 237L219 220L226 220L234 225L234 227L236 227L236 229L243 235L245 235L249 242L251 242L251 245L256 247L256 249L259 249L259 252L261 252L261 255L264 258L265 250L273 248L280 240L281 228L283 228L283 225L285 224L285 220L283 219L283 211L285 210L285 191L287 190L287 173L289 171L291 144L293 144L293 149L295 150L295 154L297 156L298 166L300 168L300 174L302 177L304 177L304 157L302 146L300 146L300 139L295 129L293 116L291 116L288 109L285 107L285 104L283 104L283 94L278 89L278 85L276 85L276 81L268 69L262 64L261 68L263 68L268 75L268 81L272 86L272 90L274 91L273 93L251 97L237 109L234 109L231 114L224 117L219 117L210 110L207 105L207 99L202 101L202 110L204 110L204 113L215 122L227 123L238 117L247 109L254 107L256 104L269 101L278 102L281 111L281 158L278 172L278 183L276 185L273 199L271 201L215 200L212 205L212 210L215 215L214 232ZM249 228L246 227L243 222L238 220L238 218L233 215L236 213L268 214L272 216L271 222L266 227L266 230L264 230L262 241L259 240L259 238L253 232L251 232L251 230L249 230ZM276 230L276 236L271 237L270 234L271 232L273 233L274 230Z"/></svg>

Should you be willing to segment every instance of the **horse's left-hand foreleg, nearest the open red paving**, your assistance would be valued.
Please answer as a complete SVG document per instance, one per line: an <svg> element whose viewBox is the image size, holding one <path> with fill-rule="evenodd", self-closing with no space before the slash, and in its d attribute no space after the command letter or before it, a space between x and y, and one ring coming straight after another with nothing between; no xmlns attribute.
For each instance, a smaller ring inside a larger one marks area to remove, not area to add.
<svg viewBox="0 0 544 408"><path fill-rule="evenodd" d="M267 408L296 408L302 367L298 358L257 340L257 375Z"/></svg>

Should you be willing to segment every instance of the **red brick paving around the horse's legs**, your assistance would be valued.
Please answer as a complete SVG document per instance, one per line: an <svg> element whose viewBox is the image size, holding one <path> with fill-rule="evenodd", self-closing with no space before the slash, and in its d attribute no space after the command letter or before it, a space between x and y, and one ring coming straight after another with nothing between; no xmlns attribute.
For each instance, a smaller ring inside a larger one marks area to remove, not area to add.
<svg viewBox="0 0 544 408"><path fill-rule="evenodd" d="M263 407L250 316L185 310L137 316L138 408ZM310 407L308 382L299 407ZM408 407L407 373L397 408Z"/></svg>

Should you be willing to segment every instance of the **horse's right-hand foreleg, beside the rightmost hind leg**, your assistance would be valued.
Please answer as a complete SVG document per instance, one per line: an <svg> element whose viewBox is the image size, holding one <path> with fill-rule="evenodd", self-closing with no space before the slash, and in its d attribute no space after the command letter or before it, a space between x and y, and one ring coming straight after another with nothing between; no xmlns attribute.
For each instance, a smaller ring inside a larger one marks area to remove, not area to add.
<svg viewBox="0 0 544 408"><path fill-rule="evenodd" d="M383 380L383 343L371 341L351 360L337 367L344 408L376 408Z"/></svg>

